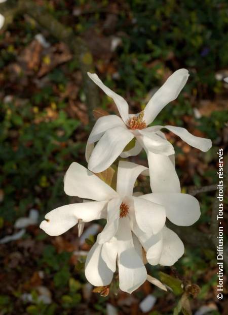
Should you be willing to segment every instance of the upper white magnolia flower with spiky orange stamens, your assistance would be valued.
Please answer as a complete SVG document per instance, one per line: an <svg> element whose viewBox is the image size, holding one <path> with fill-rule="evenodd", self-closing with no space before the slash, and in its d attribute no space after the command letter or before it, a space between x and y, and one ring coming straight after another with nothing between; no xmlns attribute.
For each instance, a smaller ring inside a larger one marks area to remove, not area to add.
<svg viewBox="0 0 228 315"><path fill-rule="evenodd" d="M105 86L96 74L88 73L88 76L107 96L113 99L121 116L107 115L96 121L86 148L89 170L96 173L101 172L107 169L119 155L121 157L137 155L142 148L145 149L147 156L150 152L164 156L174 154L173 146L160 131L162 128L172 131L189 145L202 151L207 151L211 147L211 140L193 136L181 127L171 125L147 127L168 103L178 97L189 76L186 69L175 71L150 99L145 109L136 115L129 114L127 102ZM136 138L135 146L129 151L123 152L134 137ZM94 143L97 141L98 143L94 147ZM149 158L148 156L148 160ZM167 161L168 159L165 159L165 164L169 163ZM153 173L151 172L151 174Z"/></svg>

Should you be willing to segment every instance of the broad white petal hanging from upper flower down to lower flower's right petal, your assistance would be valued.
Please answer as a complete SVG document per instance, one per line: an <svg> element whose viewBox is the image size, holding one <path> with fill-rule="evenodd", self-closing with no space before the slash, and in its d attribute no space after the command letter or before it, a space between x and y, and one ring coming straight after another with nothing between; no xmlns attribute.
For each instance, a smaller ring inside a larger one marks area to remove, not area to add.
<svg viewBox="0 0 228 315"><path fill-rule="evenodd" d="M180 193L180 181L169 156L147 154L150 187L153 193Z"/></svg>

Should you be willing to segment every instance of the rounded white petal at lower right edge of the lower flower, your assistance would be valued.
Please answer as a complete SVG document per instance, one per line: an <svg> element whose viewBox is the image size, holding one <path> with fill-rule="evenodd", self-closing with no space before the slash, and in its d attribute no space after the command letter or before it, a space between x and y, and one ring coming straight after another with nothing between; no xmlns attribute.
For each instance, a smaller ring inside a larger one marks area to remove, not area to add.
<svg viewBox="0 0 228 315"><path fill-rule="evenodd" d="M184 245L179 236L167 227L164 227L162 234L163 248L159 264L172 266L184 254Z"/></svg>

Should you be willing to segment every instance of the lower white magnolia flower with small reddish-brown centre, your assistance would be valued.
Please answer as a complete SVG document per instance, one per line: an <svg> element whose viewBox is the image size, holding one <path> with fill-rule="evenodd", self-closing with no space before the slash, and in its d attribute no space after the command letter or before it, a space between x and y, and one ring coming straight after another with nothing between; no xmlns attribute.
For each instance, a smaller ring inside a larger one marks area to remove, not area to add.
<svg viewBox="0 0 228 315"><path fill-rule="evenodd" d="M160 193L133 196L134 183L140 173L147 174L147 168L121 161L117 191L114 191L85 167L72 163L64 177L65 193L96 201L59 207L46 214L46 220L41 223L40 227L47 234L57 236L78 222L107 219L86 261L85 274L94 286L109 285L117 257L121 290L131 293L145 281L147 273L139 254L142 246L133 237L132 228L135 234L140 231L148 236L149 249L154 245L150 238L163 233L166 216L183 226L192 225L199 218L199 203L192 196L178 193L170 197ZM142 239L143 247L147 248L145 242Z"/></svg>

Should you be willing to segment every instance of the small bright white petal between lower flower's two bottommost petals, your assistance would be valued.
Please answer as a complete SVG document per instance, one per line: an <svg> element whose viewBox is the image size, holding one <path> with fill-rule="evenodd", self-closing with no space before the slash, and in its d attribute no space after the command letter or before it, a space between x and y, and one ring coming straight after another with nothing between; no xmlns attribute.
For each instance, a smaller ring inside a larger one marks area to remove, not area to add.
<svg viewBox="0 0 228 315"><path fill-rule="evenodd" d="M116 271L117 253L118 247L116 239L110 240L109 242L103 244L101 249L101 257L112 272Z"/></svg>

